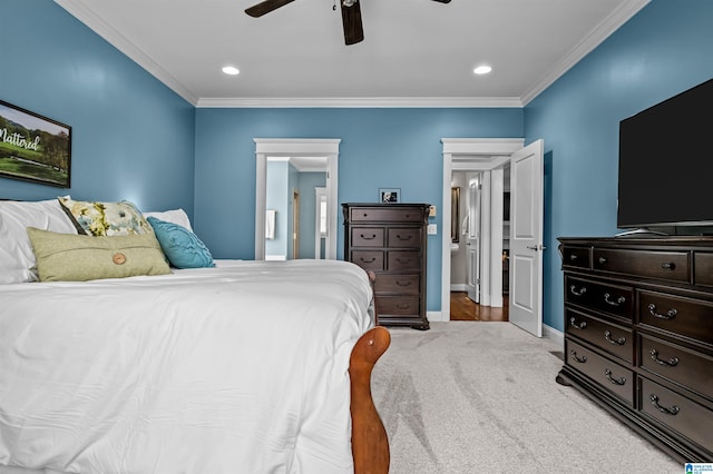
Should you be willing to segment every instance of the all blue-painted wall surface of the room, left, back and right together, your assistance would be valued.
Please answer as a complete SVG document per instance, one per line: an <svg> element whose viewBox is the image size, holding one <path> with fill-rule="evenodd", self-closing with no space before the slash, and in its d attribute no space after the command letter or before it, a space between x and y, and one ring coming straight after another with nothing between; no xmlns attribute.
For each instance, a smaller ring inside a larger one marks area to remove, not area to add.
<svg viewBox="0 0 713 474"><path fill-rule="evenodd" d="M70 125L74 146L70 189L0 178L0 197L183 207L218 258L253 257L255 137L341 138L341 203L398 187L437 205L441 138L543 138L545 323L558 329L556 238L616 231L618 121L713 76L713 2L653 0L525 109L196 110L51 0L3 0L2 17L0 99ZM428 309L439 310L432 221ZM340 226L340 255L342 243Z"/></svg>

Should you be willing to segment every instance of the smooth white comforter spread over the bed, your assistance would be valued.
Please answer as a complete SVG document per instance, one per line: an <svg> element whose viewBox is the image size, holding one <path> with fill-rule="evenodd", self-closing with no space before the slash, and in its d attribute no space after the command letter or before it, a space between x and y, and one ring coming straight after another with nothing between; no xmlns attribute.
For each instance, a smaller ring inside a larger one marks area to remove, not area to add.
<svg viewBox="0 0 713 474"><path fill-rule="evenodd" d="M334 260L0 285L0 472L351 472L370 300Z"/></svg>

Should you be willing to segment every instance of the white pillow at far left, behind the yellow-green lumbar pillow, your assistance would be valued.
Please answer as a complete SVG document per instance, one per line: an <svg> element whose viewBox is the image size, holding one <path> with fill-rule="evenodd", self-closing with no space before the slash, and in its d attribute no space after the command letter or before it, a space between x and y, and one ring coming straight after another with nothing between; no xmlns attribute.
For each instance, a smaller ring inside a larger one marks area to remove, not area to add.
<svg viewBox="0 0 713 474"><path fill-rule="evenodd" d="M0 201L0 284L38 280L28 227L77 234L57 199Z"/></svg>

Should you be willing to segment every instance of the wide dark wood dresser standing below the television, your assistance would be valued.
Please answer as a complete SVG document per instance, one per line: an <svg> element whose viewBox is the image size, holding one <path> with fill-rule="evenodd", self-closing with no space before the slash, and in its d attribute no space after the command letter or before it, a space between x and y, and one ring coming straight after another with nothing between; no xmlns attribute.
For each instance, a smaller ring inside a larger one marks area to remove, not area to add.
<svg viewBox="0 0 713 474"><path fill-rule="evenodd" d="M574 385L681 462L713 461L713 238L560 238Z"/></svg>

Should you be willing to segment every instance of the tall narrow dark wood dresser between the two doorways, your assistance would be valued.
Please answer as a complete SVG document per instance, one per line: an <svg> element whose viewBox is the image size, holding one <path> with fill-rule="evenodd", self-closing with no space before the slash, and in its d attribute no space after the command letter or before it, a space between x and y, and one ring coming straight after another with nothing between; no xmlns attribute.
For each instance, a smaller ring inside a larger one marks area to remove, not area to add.
<svg viewBox="0 0 713 474"><path fill-rule="evenodd" d="M342 204L344 258L375 274L377 320L428 329L428 204Z"/></svg>

